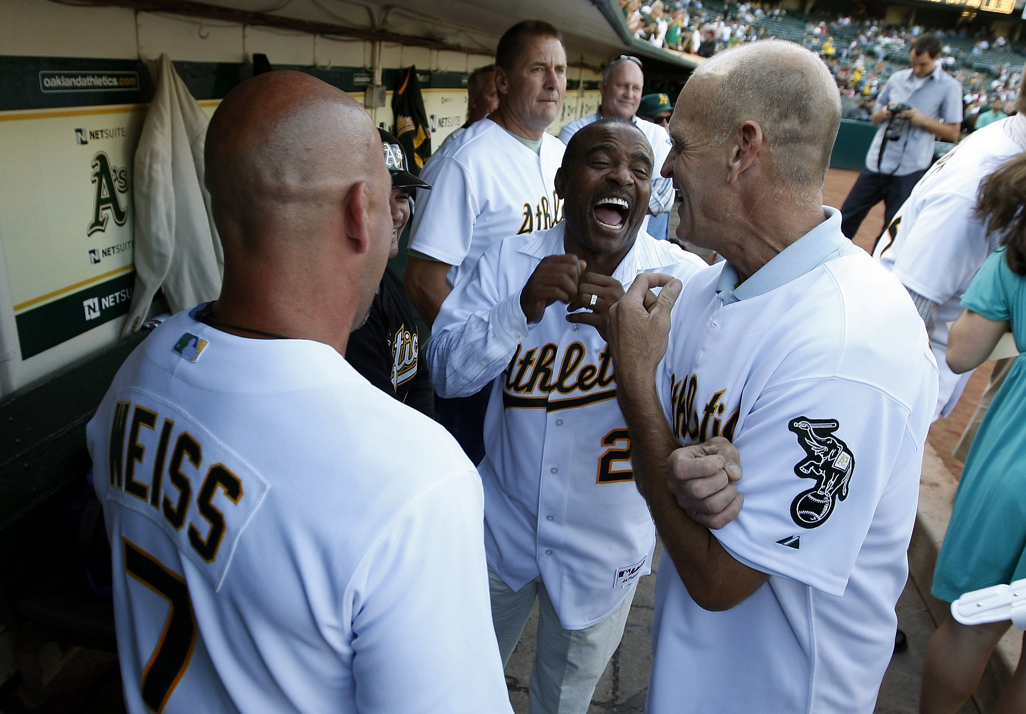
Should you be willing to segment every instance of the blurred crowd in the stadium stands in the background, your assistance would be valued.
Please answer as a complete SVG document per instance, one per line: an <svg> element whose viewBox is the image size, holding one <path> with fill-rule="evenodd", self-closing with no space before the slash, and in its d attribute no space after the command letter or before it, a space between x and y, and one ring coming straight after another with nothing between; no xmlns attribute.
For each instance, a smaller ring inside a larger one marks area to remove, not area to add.
<svg viewBox="0 0 1026 714"><path fill-rule="evenodd" d="M620 4L635 37L703 57L766 37L801 43L827 63L847 119L869 119L887 78L908 66L912 42L928 32L919 25L884 27L877 19L852 15L788 16L787 10L758 1L620 0ZM964 89L966 129L972 130L980 116L992 121L1014 112L1026 45L985 32L974 35L964 28L929 32L943 43L942 67Z"/></svg>

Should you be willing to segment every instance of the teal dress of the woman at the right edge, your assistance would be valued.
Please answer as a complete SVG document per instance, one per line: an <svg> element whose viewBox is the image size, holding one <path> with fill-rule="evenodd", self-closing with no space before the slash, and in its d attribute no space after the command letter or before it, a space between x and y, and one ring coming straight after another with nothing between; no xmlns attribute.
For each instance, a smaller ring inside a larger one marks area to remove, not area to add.
<svg viewBox="0 0 1026 714"><path fill-rule="evenodd" d="M1026 277L1012 272L1004 248L983 264L961 304L1011 320L1021 354L965 460L934 571L933 593L945 602L1026 578Z"/></svg>

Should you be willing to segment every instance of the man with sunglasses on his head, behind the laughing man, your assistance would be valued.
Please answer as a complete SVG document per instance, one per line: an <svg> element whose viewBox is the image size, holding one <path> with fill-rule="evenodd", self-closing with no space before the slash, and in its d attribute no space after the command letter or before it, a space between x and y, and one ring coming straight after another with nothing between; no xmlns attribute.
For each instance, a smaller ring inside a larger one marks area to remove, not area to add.
<svg viewBox="0 0 1026 714"><path fill-rule="evenodd" d="M673 207L673 183L660 175L660 169L670 153L670 134L665 126L641 121L636 115L641 102L641 90L644 86L644 74L641 71L641 61L627 54L621 54L610 62L598 83L602 94L602 103L598 111L581 117L564 126L559 132L559 141L569 144L570 137L582 127L608 117L623 117L641 129L641 133L652 145L655 155L655 173L652 181L652 198L648 200L648 215L641 230L655 238L669 237L670 209ZM654 223L654 222L659 223Z"/></svg>

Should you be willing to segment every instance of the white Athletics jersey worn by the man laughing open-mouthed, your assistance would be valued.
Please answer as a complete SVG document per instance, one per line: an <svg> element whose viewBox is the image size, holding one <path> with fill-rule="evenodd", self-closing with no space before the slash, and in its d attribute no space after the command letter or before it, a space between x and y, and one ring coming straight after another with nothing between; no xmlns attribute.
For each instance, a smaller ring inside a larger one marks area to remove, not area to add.
<svg viewBox="0 0 1026 714"><path fill-rule="evenodd" d="M634 485L605 341L567 322L563 303L530 325L520 308L542 259L565 252L564 230L489 248L442 305L428 363L443 397L494 382L478 467L488 564L514 590L541 574L563 628L580 630L608 617L649 571L655 531ZM626 289L665 265L683 274L705 267L639 233L613 277Z"/></svg>

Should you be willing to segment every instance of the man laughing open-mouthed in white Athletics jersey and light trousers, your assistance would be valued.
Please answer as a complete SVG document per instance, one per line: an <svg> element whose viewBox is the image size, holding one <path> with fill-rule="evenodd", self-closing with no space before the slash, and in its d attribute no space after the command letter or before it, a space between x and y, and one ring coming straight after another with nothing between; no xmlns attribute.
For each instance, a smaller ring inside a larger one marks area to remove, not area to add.
<svg viewBox="0 0 1026 714"><path fill-rule="evenodd" d="M485 251L428 343L439 394L492 385L480 465L491 614L505 663L539 600L532 714L588 711L650 567L606 314L639 272L705 267L640 231L653 170L627 120L582 129L556 174L565 220Z"/></svg>

